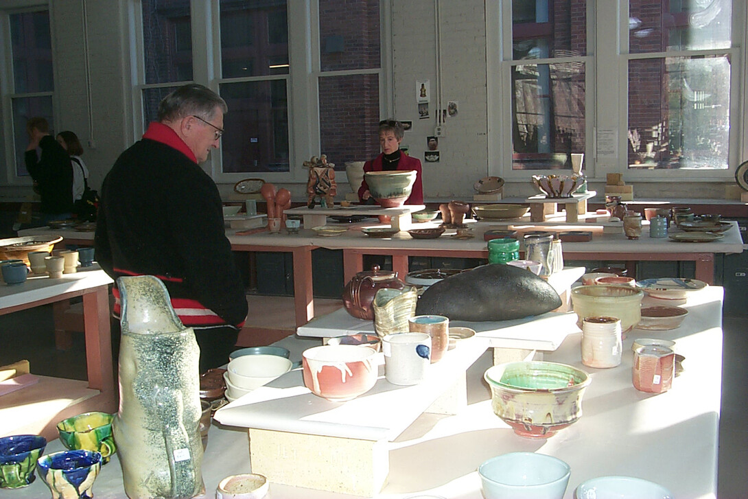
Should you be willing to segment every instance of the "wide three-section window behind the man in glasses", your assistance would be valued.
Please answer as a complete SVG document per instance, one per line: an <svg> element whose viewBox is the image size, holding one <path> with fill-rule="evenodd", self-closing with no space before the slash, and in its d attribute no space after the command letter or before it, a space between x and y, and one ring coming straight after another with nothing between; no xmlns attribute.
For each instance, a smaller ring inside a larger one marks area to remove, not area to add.
<svg viewBox="0 0 748 499"><path fill-rule="evenodd" d="M213 177L292 180L327 154L337 167L378 152L379 1L140 0L143 126L178 85L198 82L229 106ZM310 25L314 22L313 25Z"/></svg>

